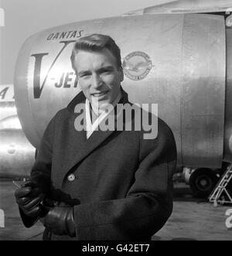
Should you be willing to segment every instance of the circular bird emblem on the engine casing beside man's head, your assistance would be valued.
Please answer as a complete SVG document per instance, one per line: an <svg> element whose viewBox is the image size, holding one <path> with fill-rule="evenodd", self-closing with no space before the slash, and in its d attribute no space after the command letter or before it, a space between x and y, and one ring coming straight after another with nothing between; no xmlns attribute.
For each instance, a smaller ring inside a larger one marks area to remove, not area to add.
<svg viewBox="0 0 232 256"><path fill-rule="evenodd" d="M146 53L133 52L125 56L122 67L126 77L131 80L142 80L152 69L152 60Z"/></svg>

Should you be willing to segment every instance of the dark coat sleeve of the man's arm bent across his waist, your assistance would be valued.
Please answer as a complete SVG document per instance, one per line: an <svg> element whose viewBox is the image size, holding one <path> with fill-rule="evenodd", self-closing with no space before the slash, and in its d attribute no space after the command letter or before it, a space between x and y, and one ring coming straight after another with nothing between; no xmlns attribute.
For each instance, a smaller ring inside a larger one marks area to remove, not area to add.
<svg viewBox="0 0 232 256"><path fill-rule="evenodd" d="M159 121L157 138L143 139L138 134L140 164L127 196L75 206L77 240L149 239L168 220L176 167L172 131Z"/></svg>

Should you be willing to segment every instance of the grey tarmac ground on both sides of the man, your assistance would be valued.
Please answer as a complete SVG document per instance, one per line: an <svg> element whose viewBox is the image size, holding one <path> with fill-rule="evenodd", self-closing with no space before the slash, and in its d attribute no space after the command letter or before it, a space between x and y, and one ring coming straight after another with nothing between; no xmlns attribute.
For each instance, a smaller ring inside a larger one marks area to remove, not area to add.
<svg viewBox="0 0 232 256"><path fill-rule="evenodd" d="M0 241L41 241L43 224L23 226L14 192L12 180L0 179ZM232 228L226 227L229 209L232 214L232 204L214 207L208 200L194 198L185 183L174 183L172 215L152 240L232 241ZM229 223L232 226L232 218Z"/></svg>

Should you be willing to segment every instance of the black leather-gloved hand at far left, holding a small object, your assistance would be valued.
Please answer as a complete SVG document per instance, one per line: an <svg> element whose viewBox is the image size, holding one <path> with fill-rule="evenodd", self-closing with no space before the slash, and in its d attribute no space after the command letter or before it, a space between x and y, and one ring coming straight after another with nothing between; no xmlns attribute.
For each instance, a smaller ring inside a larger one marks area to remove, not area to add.
<svg viewBox="0 0 232 256"><path fill-rule="evenodd" d="M28 217L37 217L41 211L40 203L43 201L42 189L29 181L23 187L15 190L15 200L19 208Z"/></svg>

